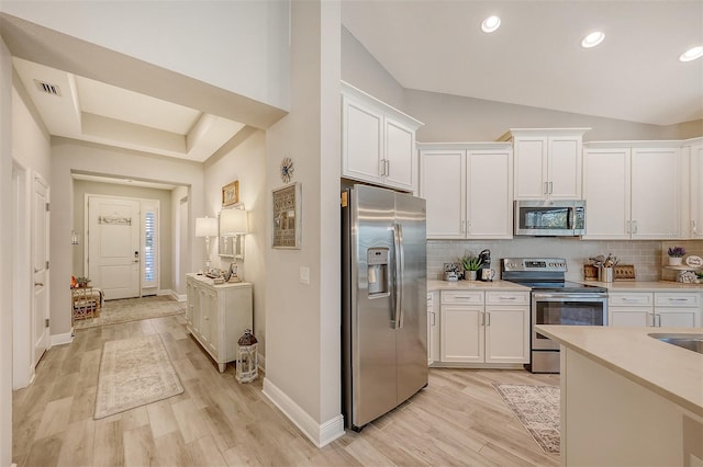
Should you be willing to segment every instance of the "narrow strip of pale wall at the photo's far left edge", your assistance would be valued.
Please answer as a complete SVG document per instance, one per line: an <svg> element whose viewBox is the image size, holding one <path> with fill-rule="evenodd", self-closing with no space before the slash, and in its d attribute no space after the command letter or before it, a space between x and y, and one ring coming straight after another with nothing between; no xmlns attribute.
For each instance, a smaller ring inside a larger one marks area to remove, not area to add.
<svg viewBox="0 0 703 467"><path fill-rule="evenodd" d="M12 58L0 41L0 218L12 218ZM0 223L0 244L12 224ZM0 248L0 466L12 464L12 252Z"/></svg>

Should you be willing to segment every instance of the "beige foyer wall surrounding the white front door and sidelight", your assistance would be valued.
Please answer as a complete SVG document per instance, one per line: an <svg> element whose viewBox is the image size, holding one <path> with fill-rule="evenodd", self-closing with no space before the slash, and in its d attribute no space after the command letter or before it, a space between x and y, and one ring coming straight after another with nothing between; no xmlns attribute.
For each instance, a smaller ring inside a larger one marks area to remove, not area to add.
<svg viewBox="0 0 703 467"><path fill-rule="evenodd" d="M142 186L125 186L115 183L98 183L85 180L74 180L74 226L72 229L81 234L80 244L71 247L74 252L74 264L71 274L75 276L86 275L85 271L85 247L86 237L85 219L86 219L86 194L121 196L138 200L158 200L159 204L159 223L158 223L158 241L159 241L159 281L158 287L161 291L169 291L172 284L172 259L174 249L177 247L172 241L171 224L174 215L171 213L171 191L156 190Z"/></svg>

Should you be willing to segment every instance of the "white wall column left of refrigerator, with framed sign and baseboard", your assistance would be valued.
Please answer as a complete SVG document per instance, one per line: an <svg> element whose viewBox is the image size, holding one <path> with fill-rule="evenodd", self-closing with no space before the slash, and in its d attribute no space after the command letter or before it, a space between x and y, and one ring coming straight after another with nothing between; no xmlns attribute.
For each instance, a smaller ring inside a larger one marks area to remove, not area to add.
<svg viewBox="0 0 703 467"><path fill-rule="evenodd" d="M266 179L268 190L281 186L280 161L293 160L292 181L302 183L302 248L267 249L264 391L325 444L343 432L339 3L293 1L291 19L291 113L267 130ZM310 269L310 285L299 282L300 267Z"/></svg>

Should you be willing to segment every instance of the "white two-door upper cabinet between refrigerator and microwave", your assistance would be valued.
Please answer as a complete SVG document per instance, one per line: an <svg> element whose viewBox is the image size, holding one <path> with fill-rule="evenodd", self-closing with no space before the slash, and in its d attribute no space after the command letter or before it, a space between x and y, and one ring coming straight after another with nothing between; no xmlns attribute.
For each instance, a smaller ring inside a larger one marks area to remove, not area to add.
<svg viewBox="0 0 703 467"><path fill-rule="evenodd" d="M417 144L427 238L512 238L509 144Z"/></svg>

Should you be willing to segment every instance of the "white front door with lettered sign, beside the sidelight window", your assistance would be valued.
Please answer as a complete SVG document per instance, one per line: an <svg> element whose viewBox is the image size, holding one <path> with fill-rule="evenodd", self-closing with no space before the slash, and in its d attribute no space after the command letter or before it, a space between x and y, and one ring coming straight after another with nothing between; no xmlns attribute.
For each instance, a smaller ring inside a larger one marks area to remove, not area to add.
<svg viewBox="0 0 703 467"><path fill-rule="evenodd" d="M140 202L88 198L88 277L105 299L140 296Z"/></svg>

